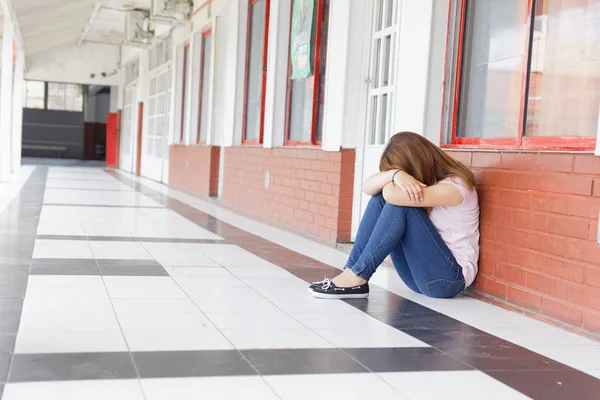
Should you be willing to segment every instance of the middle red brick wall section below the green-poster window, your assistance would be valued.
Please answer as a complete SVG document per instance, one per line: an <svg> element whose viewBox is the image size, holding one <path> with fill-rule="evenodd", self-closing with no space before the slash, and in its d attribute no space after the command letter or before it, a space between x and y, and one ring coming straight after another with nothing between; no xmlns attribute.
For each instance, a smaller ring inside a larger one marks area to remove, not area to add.
<svg viewBox="0 0 600 400"><path fill-rule="evenodd" d="M349 241L354 158L354 149L227 147L223 204L328 243Z"/></svg>

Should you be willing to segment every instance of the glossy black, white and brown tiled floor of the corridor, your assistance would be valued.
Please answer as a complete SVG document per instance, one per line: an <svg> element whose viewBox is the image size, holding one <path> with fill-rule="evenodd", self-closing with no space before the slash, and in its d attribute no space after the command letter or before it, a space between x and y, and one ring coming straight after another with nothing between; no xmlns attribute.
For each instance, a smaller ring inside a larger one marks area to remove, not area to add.
<svg viewBox="0 0 600 400"><path fill-rule="evenodd" d="M343 255L125 174L28 166L13 182L3 400L599 398L594 340L411 294L386 269L368 300L312 299Z"/></svg>

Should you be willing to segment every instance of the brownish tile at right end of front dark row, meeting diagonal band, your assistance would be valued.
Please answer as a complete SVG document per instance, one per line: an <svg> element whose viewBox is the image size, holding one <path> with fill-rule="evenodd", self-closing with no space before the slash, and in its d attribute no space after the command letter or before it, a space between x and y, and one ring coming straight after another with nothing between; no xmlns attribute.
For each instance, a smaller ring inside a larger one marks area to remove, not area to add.
<svg viewBox="0 0 600 400"><path fill-rule="evenodd" d="M461 347L446 353L481 371L565 370L567 366L522 347Z"/></svg>

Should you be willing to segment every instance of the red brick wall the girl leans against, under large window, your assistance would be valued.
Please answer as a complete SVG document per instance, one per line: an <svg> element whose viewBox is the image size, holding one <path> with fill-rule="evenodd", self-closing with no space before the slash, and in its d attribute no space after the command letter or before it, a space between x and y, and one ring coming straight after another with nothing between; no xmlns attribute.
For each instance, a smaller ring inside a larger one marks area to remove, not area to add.
<svg viewBox="0 0 600 400"><path fill-rule="evenodd" d="M600 333L600 157L451 152L479 183L477 294Z"/></svg>

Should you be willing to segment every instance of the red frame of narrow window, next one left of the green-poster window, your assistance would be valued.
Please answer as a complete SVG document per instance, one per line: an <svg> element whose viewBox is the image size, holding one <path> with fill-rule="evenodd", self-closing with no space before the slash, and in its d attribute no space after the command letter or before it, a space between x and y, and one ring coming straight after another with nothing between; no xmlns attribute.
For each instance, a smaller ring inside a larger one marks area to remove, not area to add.
<svg viewBox="0 0 600 400"><path fill-rule="evenodd" d="M267 91L267 57L269 53L269 16L271 9L271 0L265 0L265 28L264 28L264 43L263 43L263 65L262 65L262 82L261 82L261 100L260 100L260 127L258 132L258 140L246 139L246 122L248 109L248 73L250 63L250 29L252 26L252 6L260 0L248 0L248 26L246 27L246 73L244 82L244 114L242 120L242 144L262 144L265 127L265 97Z"/></svg>

